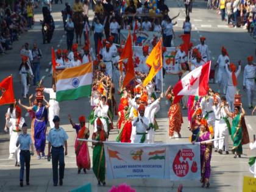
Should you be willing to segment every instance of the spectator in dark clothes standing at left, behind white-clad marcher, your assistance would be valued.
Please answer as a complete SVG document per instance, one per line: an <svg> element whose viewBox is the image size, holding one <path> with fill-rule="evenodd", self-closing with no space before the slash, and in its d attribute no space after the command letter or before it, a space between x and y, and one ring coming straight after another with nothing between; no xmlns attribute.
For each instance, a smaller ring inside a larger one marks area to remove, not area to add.
<svg viewBox="0 0 256 192"><path fill-rule="evenodd" d="M40 59L42 57L41 49L37 48L37 43L34 43L32 49L32 56L33 56L33 74L34 80L33 85L37 85L40 81Z"/></svg>

